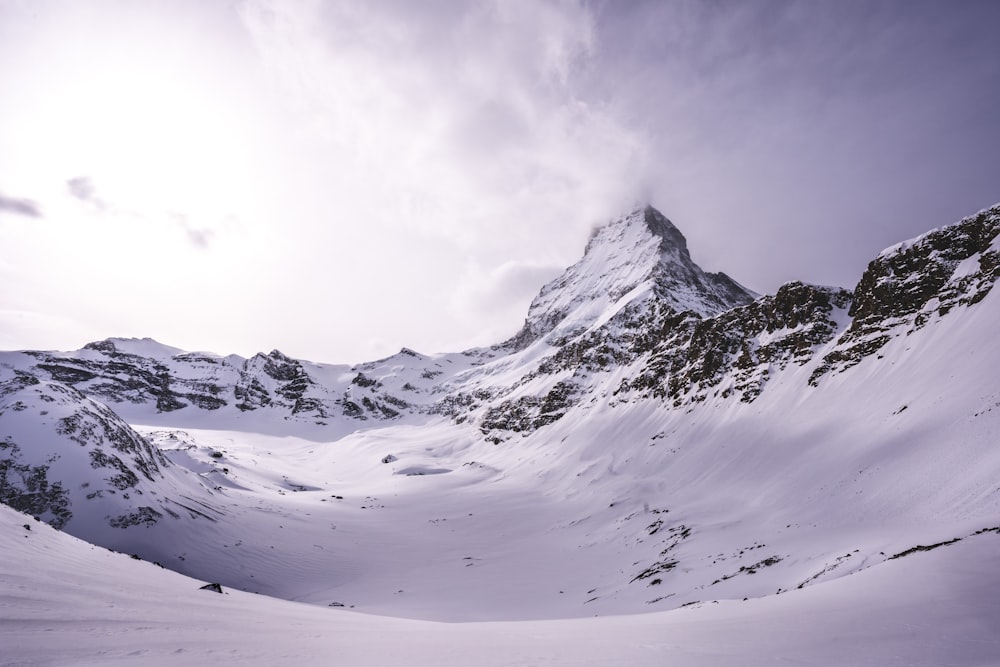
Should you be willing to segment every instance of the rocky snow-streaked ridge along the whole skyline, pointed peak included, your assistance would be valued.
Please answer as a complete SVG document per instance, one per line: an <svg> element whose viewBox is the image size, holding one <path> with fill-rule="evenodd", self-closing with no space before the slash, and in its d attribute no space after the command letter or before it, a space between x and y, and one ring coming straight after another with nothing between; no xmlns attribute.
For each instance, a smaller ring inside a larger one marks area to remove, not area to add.
<svg viewBox="0 0 1000 667"><path fill-rule="evenodd" d="M521 415L515 430L523 432L529 421L550 423L574 404L574 395L585 393L574 375L628 366L616 395L638 392L675 407L709 392L752 402L771 373L792 361L811 362L817 348L836 339L809 379L815 386L829 372L877 354L894 335L889 329L900 326L897 320L911 319L912 331L933 314L981 300L1000 275L998 231L1000 207L994 206L891 246L872 260L854 291L793 281L751 300L725 274L706 274L691 262L686 240L665 216L637 207L595 230L583 258L540 290L521 332L493 348L439 355L404 348L353 366L303 362L278 350L248 359L183 352L151 339L22 354L36 360L31 367L40 377L126 410L149 402L158 413L189 406L226 414L233 407L277 409L287 411L286 420L328 426L428 412L465 421L493 402L488 424L502 424L496 417L513 412ZM596 279L581 278L584 272ZM688 277L693 287L682 297L691 299L658 295L664 276L674 274ZM721 278L707 283L706 276ZM499 375L494 384L502 386L491 386L491 375ZM538 382L543 377L552 381L545 386ZM535 397L517 397L526 385L539 387Z"/></svg>

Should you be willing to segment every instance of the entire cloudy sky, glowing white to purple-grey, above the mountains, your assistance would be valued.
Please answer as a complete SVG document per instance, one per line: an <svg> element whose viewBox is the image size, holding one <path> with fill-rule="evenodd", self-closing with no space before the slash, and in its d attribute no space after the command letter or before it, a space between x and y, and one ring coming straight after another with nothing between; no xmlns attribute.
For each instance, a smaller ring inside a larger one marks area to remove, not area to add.
<svg viewBox="0 0 1000 667"><path fill-rule="evenodd" d="M650 202L758 292L1000 200L1000 3L0 0L0 348L514 334Z"/></svg>

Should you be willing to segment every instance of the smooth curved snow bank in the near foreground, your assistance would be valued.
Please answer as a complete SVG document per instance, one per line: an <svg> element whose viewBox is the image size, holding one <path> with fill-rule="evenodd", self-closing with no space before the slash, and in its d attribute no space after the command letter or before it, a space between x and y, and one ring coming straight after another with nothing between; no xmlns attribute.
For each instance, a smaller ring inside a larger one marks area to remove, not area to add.
<svg viewBox="0 0 1000 667"><path fill-rule="evenodd" d="M30 527L30 530L24 526ZM0 662L996 665L1000 536L780 596L558 621L369 616L203 582L0 507Z"/></svg>

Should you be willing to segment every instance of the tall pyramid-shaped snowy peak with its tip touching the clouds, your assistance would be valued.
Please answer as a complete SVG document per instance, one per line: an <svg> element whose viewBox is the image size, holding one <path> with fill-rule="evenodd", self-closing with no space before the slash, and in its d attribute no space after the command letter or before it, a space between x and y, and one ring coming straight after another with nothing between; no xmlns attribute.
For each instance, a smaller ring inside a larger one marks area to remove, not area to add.
<svg viewBox="0 0 1000 667"><path fill-rule="evenodd" d="M526 347L550 333L581 333L649 300L710 317L755 297L724 273L703 271L691 261L680 230L652 206L643 206L594 230L583 258L532 301L524 328L511 343Z"/></svg>

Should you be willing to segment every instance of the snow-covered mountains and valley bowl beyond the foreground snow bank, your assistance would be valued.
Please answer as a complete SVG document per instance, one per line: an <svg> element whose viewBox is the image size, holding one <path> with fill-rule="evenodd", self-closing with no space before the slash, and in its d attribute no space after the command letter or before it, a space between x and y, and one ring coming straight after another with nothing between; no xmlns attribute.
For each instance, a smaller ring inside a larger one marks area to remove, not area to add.
<svg viewBox="0 0 1000 667"><path fill-rule="evenodd" d="M374 614L801 595L998 534L998 236L1000 205L887 249L853 290L758 297L644 207L492 348L0 353L0 500L203 581Z"/></svg>

